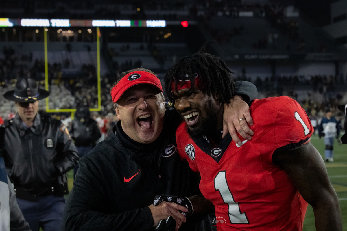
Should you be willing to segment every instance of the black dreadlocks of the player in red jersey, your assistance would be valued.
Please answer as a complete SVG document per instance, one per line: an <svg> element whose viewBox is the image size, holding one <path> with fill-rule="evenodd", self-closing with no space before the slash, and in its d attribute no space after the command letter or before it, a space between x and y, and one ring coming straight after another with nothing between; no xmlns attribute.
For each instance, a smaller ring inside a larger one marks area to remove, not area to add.
<svg viewBox="0 0 347 231"><path fill-rule="evenodd" d="M205 53L206 45L211 42L215 41L206 42L197 53L179 60L165 75L166 94L171 103L174 103L172 91L177 91L180 80L189 79L194 86L196 75L200 79L199 90L204 94L219 96L224 103L230 103L235 89L230 75L233 72L220 57Z"/></svg>

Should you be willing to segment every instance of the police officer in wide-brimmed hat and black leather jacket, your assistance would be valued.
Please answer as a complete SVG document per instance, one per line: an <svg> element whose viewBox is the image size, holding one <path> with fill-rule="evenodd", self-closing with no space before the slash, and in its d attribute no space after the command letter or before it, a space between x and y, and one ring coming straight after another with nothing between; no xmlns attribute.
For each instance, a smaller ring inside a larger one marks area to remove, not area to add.
<svg viewBox="0 0 347 231"><path fill-rule="evenodd" d="M7 174L15 186L17 202L33 231L62 230L66 172L78 161L78 152L65 125L37 113L40 99L49 92L33 79L18 79L4 97L15 101L16 116L5 121Z"/></svg>

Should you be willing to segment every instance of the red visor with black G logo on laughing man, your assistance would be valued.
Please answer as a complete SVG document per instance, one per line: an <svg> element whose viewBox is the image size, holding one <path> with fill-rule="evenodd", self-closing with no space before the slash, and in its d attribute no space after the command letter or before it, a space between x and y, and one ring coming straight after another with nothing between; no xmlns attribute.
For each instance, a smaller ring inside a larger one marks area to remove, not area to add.
<svg viewBox="0 0 347 231"><path fill-rule="evenodd" d="M163 92L161 82L158 77L147 71L133 71L125 75L115 87L112 88L111 96L113 102L117 102L126 90L135 85L147 83Z"/></svg>

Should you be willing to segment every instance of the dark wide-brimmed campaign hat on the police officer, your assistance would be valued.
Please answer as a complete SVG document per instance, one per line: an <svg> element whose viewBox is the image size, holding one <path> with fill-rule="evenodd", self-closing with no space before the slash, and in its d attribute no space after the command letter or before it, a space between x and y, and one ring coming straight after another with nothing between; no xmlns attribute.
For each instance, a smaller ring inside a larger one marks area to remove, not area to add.
<svg viewBox="0 0 347 231"><path fill-rule="evenodd" d="M49 91L40 89L34 79L18 79L15 89L6 92L3 97L15 102L32 103L49 96Z"/></svg>

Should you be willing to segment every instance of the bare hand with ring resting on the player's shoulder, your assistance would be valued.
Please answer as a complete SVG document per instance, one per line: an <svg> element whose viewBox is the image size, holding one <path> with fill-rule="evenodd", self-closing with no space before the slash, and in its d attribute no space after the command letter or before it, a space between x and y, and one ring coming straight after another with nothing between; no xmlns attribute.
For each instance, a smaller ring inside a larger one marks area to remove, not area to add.
<svg viewBox="0 0 347 231"><path fill-rule="evenodd" d="M244 118L244 119L242 119ZM242 121L240 121L242 119ZM238 145L242 145L241 140L237 136L237 132L246 140L251 140L254 132L249 125L253 125L253 119L249 113L248 104L242 100L240 96L234 96L234 100L230 104L225 104L223 114L223 134L222 138L230 133L232 139Z"/></svg>

